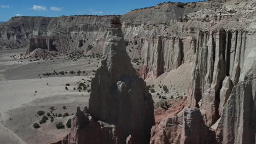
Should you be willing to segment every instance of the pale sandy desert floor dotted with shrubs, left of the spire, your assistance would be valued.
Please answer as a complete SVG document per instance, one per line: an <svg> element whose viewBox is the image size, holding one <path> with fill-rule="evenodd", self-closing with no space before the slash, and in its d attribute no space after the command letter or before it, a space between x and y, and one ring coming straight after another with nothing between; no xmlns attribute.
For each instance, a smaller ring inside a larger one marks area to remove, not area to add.
<svg viewBox="0 0 256 144"><path fill-rule="evenodd" d="M57 122L66 122L75 113L75 107L88 105L89 92L79 92L78 83L90 85L92 70L98 65L97 59L79 59L64 61L63 58L48 61L23 61L13 59L11 55L19 55L26 49L7 50L0 52L0 143L49 143L65 136L69 129L57 129ZM64 61L64 62L63 62ZM53 71L83 70L88 75L65 74L43 76ZM82 80L83 79L83 80ZM88 81L87 81L88 80ZM66 83L70 86L65 89ZM69 113L68 117L56 117L54 122L49 120L34 129L32 125L39 123L42 116L37 111L50 113ZM67 109L62 107L66 106Z"/></svg>

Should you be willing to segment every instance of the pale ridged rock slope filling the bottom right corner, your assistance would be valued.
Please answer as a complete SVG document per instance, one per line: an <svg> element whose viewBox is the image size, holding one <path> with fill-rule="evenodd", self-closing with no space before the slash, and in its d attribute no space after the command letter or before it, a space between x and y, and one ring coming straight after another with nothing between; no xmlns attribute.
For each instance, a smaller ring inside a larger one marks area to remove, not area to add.
<svg viewBox="0 0 256 144"><path fill-rule="evenodd" d="M217 127L219 143L255 143L256 61L245 79L237 83Z"/></svg>

